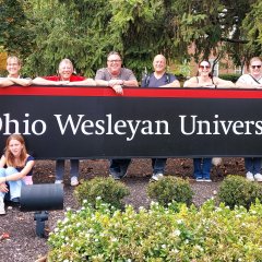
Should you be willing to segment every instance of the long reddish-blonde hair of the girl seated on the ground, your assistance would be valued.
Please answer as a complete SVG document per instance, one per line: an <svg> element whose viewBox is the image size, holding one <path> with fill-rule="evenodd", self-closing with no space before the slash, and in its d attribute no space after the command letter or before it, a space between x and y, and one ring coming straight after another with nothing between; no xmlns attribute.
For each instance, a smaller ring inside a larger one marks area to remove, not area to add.
<svg viewBox="0 0 262 262"><path fill-rule="evenodd" d="M19 158L19 165L24 166L25 160L27 158L27 151L26 151L26 147L25 147L24 138L21 134L11 134L7 139L5 148L4 148L4 156L5 156L5 159L7 159L7 165L15 167L15 157L9 148L9 144L10 144L11 140L17 140L23 145L23 148L21 151L20 158Z"/></svg>

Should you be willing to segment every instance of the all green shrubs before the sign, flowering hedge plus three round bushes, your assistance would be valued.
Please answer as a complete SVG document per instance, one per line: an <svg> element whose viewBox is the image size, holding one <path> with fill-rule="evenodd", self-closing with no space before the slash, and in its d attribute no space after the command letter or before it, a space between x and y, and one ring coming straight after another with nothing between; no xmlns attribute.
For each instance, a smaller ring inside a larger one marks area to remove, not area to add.
<svg viewBox="0 0 262 262"><path fill-rule="evenodd" d="M218 191L221 204L210 200L196 209L190 205L187 180L164 177L147 187L157 202L139 212L119 210L128 194L124 187L110 178L80 186L82 207L68 211L50 234L48 261L261 261L259 183L228 176Z"/></svg>

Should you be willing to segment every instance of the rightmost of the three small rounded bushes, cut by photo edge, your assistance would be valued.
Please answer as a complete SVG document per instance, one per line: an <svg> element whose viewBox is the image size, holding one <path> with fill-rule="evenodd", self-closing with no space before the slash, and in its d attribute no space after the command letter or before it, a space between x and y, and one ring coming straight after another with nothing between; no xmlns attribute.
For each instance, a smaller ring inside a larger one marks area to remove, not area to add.
<svg viewBox="0 0 262 262"><path fill-rule="evenodd" d="M230 209L236 205L249 209L255 199L262 201L262 187L240 176L228 176L221 184L218 200Z"/></svg>

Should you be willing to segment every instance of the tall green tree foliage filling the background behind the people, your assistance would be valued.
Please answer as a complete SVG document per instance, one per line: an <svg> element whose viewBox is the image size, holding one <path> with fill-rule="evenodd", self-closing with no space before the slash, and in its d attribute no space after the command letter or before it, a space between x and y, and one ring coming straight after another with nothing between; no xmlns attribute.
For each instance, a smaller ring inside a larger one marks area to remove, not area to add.
<svg viewBox="0 0 262 262"><path fill-rule="evenodd" d="M237 64L261 53L259 0L0 0L0 40L26 59L28 74L56 72L70 58L92 76L119 51L138 76L156 53L168 62L228 53ZM194 44L194 53L188 47ZM246 45L248 43L248 45Z"/></svg>

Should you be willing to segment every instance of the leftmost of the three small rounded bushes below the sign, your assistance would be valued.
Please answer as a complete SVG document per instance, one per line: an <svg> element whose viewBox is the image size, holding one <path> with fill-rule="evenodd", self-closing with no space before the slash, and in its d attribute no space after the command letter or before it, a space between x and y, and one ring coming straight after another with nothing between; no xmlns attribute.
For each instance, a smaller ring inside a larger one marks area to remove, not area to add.
<svg viewBox="0 0 262 262"><path fill-rule="evenodd" d="M94 206L96 199L99 196L103 202L121 209L123 206L122 199L130 192L127 186L120 181L97 177L84 181L75 189L74 193L80 204L87 200Z"/></svg>

